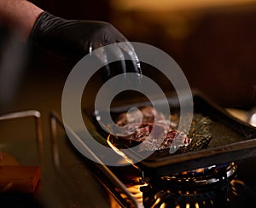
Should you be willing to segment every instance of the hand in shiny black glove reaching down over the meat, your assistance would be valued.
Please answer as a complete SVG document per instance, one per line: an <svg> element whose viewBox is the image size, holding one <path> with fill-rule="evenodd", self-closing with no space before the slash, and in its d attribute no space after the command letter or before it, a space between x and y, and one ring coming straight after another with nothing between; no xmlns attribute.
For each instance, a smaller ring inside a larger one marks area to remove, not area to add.
<svg viewBox="0 0 256 208"><path fill-rule="evenodd" d="M105 66L105 76L113 77L119 73L137 72L141 75L140 62L131 43L111 24L102 21L90 20L65 20L48 12L43 12L38 17L28 41L37 43L56 55L76 59L77 61L89 54L92 50L106 46L110 43L119 44L108 53L102 50L97 58ZM115 55L119 61L119 72L113 72L108 64L108 55ZM131 63L125 64L125 56L131 57ZM129 68L126 66L130 66ZM140 76L138 76L140 77Z"/></svg>

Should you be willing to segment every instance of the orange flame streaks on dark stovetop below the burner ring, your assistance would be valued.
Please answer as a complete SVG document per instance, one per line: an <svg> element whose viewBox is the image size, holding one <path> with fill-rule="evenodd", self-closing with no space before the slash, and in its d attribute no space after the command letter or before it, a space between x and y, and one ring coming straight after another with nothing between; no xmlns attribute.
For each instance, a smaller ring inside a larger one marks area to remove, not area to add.
<svg viewBox="0 0 256 208"><path fill-rule="evenodd" d="M218 188L204 192L175 193L172 190L156 190L143 187L144 207L237 207L234 201L245 194L245 185L239 180L233 180ZM241 201L241 200L239 200Z"/></svg>

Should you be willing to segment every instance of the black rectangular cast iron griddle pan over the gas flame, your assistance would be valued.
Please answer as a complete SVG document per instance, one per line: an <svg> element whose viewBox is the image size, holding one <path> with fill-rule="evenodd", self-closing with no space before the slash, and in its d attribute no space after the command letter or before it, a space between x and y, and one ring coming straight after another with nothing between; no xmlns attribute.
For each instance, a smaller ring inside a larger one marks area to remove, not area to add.
<svg viewBox="0 0 256 208"><path fill-rule="evenodd" d="M176 96L167 98L171 112L179 110L179 101ZM143 153L130 151L127 157L136 159L136 165L140 167L145 176L166 176L185 170L195 170L197 168L210 165L224 165L230 162L236 162L241 159L247 159L256 156L256 128L241 122L239 119L232 117L224 108L219 107L216 103L201 95L193 93L194 113L200 113L212 120L211 132L212 140L206 149L197 149L187 153L171 154L167 150L157 150L147 159L141 160ZM161 101L160 101L161 102ZM131 107L148 106L150 103L137 102L131 105L112 107L110 109L113 119L117 118L120 113L128 111ZM90 119L96 132L101 136L102 141L108 138L108 132L102 129L96 120L94 109L85 109L85 115ZM97 110L101 116L106 111ZM99 139L98 139L99 141Z"/></svg>

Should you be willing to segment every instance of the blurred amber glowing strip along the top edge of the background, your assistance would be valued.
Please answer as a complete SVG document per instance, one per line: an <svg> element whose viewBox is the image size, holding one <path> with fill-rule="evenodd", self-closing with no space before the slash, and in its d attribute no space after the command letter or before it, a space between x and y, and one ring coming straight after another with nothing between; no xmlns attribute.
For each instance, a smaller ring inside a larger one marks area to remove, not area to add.
<svg viewBox="0 0 256 208"><path fill-rule="evenodd" d="M256 3L256 0L112 0L111 3L120 10L167 11L232 6Z"/></svg>

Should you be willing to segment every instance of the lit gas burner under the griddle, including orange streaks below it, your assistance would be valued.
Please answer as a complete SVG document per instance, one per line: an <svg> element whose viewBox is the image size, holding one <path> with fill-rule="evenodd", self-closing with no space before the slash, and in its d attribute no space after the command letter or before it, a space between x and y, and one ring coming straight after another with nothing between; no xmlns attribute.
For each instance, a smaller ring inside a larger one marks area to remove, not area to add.
<svg viewBox="0 0 256 208"><path fill-rule="evenodd" d="M236 177L236 164L212 165L172 176L148 179L142 186L144 207L237 207L247 204L247 187ZM242 198L242 200L241 200ZM250 202L251 203L251 202Z"/></svg>

